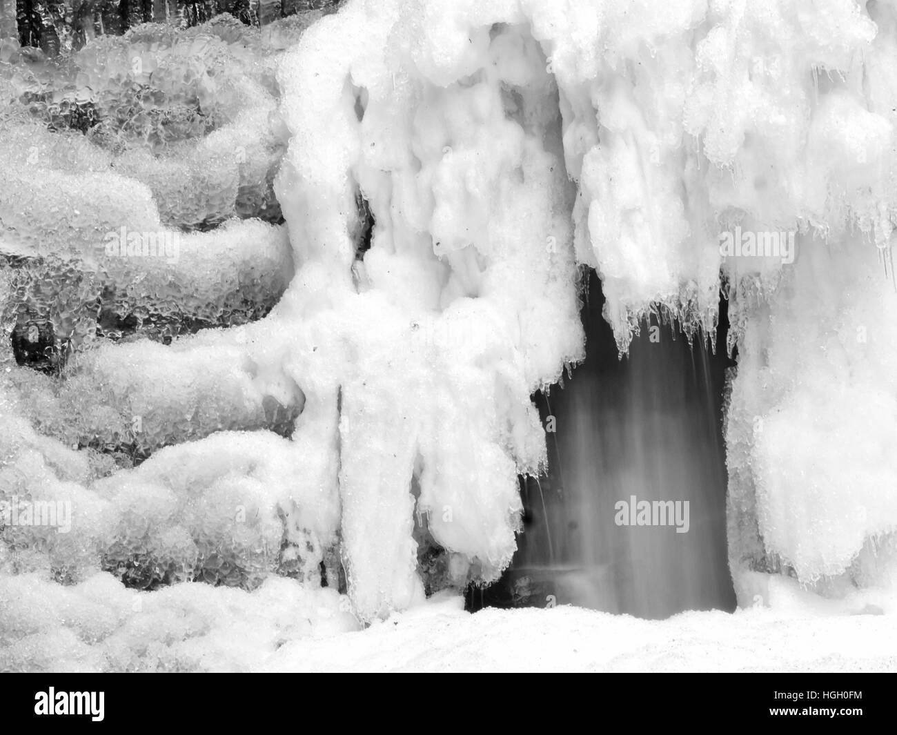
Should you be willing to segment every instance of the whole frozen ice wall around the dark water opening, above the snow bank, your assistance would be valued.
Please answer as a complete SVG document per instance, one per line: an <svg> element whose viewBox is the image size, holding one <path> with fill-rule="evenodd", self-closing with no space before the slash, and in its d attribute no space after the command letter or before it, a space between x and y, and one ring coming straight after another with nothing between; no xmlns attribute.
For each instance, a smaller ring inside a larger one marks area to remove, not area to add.
<svg viewBox="0 0 897 735"><path fill-rule="evenodd" d="M891 585L895 22L350 0L307 30L141 26L52 74L0 41L4 337L50 322L65 363L15 367L4 338L0 494L74 508L65 538L4 529L6 590L52 574L58 606L101 607L105 569L251 607L299 595L285 575L345 584L367 622L495 579L546 459L530 395L583 355L586 267L623 352L652 312L709 338L730 300L741 599L767 573ZM110 257L121 228L178 257ZM4 643L49 635L13 598ZM109 634L84 625L59 635Z"/></svg>

